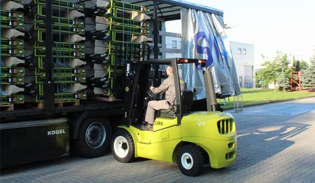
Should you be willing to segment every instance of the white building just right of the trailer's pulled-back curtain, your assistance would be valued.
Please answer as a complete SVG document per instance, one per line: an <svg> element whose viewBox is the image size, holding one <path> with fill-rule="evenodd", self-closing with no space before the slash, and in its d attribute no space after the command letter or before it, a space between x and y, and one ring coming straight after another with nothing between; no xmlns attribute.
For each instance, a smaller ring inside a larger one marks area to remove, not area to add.
<svg viewBox="0 0 315 183"><path fill-rule="evenodd" d="M232 54L241 87L255 87L255 59L254 45L230 41Z"/></svg>

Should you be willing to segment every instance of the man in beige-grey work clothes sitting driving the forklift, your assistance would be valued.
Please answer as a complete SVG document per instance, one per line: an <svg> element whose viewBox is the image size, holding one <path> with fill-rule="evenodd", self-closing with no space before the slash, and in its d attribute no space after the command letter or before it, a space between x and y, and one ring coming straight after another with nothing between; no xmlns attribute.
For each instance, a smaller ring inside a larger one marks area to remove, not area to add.
<svg viewBox="0 0 315 183"><path fill-rule="evenodd" d="M168 78L165 79L159 87L150 87L150 90L153 94L163 94L165 92L165 100L160 101L149 101L148 107L145 114L145 122L147 125L142 125L141 130L153 130L154 123L154 114L155 110L160 109L170 109L176 101L176 92L175 92L175 80L173 75L173 67L171 65L167 66L166 74ZM180 89L184 89L184 81L180 78Z"/></svg>

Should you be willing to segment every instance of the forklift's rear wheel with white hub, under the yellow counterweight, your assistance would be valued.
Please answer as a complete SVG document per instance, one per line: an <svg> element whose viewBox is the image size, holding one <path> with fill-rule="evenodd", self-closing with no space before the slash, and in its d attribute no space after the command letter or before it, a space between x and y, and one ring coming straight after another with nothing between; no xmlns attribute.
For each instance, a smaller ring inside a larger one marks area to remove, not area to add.
<svg viewBox="0 0 315 183"><path fill-rule="evenodd" d="M179 149L177 156L180 171L187 176L196 176L204 165L204 157L201 149L193 144L184 145Z"/></svg>

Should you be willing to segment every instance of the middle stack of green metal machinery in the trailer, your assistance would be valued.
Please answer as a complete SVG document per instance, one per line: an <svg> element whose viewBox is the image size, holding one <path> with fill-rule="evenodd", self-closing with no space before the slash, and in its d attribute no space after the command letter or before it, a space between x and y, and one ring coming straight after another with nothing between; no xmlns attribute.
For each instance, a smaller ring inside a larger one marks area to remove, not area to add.
<svg viewBox="0 0 315 183"><path fill-rule="evenodd" d="M35 0L35 59L37 62L35 77L38 86L36 102L42 103L44 98L44 80L46 79L46 1ZM52 59L53 80L55 83L54 102L59 106L64 103L79 105L87 94L85 73L84 41L71 40L73 36L84 36L83 3L52 0ZM40 105L43 106L43 105Z"/></svg>

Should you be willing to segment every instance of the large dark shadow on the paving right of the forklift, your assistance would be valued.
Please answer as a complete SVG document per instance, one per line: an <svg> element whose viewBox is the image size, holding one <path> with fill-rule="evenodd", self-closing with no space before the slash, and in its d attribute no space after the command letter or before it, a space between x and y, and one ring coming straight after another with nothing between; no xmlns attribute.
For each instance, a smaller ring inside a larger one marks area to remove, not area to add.
<svg viewBox="0 0 315 183"><path fill-rule="evenodd" d="M233 115L237 125L238 152L236 162L229 170L245 169L280 153L295 143L289 138L301 134L310 126L290 122L293 116Z"/></svg>

